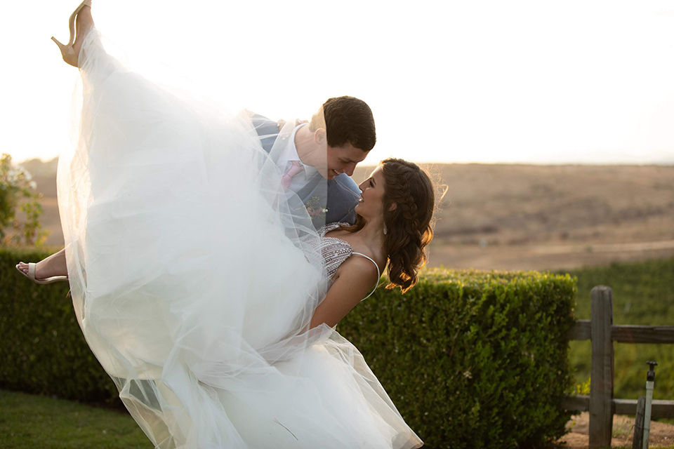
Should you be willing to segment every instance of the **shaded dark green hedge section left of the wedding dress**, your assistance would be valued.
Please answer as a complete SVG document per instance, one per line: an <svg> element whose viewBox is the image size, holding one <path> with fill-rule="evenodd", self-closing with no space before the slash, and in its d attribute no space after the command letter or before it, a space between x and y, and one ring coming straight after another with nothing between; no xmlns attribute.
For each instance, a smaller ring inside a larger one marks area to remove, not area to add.
<svg viewBox="0 0 674 449"><path fill-rule="evenodd" d="M68 284L39 286L14 267L46 255L0 248L0 388L88 403L119 401L84 341Z"/></svg>

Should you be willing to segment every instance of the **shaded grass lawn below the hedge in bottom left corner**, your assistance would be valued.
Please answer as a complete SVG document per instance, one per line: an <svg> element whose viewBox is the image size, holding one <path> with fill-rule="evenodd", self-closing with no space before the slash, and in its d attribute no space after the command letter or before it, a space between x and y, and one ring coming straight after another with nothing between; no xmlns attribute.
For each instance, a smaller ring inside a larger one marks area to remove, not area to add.
<svg viewBox="0 0 674 449"><path fill-rule="evenodd" d="M0 448L152 447L124 411L0 390Z"/></svg>

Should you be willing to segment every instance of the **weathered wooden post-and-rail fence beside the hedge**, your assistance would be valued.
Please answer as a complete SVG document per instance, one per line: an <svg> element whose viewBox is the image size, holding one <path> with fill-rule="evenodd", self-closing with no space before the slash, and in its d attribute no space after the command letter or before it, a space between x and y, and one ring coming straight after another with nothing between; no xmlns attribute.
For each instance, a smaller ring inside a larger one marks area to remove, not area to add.
<svg viewBox="0 0 674 449"><path fill-rule="evenodd" d="M613 415L637 413L636 399L613 397L613 342L674 344L674 326L615 326L613 291L606 286L593 288L591 301L592 319L576 321L569 330L569 340L592 340L590 396L568 397L562 405L567 410L589 410L590 448L610 448ZM646 360L643 362L646 373ZM644 390L645 386L644 375ZM674 417L674 401L653 401L651 415Z"/></svg>

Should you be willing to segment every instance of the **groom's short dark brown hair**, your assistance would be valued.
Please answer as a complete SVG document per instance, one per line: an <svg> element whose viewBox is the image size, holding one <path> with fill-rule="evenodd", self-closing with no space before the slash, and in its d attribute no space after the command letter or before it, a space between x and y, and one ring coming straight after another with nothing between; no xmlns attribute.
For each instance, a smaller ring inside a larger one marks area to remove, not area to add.
<svg viewBox="0 0 674 449"><path fill-rule="evenodd" d="M350 143L369 152L377 141L372 110L354 97L329 98L311 118L309 129L324 128L328 145L341 147Z"/></svg>

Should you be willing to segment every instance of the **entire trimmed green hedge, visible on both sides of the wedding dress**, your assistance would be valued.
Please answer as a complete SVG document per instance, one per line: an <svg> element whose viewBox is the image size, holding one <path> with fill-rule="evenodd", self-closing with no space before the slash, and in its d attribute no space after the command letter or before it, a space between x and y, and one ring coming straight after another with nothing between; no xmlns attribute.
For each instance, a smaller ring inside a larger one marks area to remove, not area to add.
<svg viewBox="0 0 674 449"><path fill-rule="evenodd" d="M23 253L24 260L42 254ZM0 251L0 388L110 400L67 286L34 286ZM536 447L564 434L571 389L569 276L429 270L405 295L380 288L338 326L428 448Z"/></svg>

